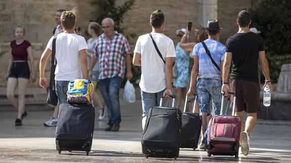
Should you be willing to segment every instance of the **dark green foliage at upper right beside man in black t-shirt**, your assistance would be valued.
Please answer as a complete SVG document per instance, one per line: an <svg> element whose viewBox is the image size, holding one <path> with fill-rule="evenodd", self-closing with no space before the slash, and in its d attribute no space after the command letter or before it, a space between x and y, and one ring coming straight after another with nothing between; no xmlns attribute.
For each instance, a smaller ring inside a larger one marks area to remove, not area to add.
<svg viewBox="0 0 291 163"><path fill-rule="evenodd" d="M262 33L266 53L291 54L291 1L261 0L252 12L252 24Z"/></svg>

